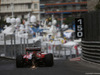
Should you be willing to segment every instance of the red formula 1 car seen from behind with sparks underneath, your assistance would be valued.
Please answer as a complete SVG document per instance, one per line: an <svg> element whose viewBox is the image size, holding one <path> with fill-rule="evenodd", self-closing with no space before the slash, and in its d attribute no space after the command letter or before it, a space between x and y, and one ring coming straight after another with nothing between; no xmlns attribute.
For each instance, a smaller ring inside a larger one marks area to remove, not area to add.
<svg viewBox="0 0 100 75"><path fill-rule="evenodd" d="M26 48L25 55L18 55L16 57L16 67L24 67L25 65L34 65L35 66L53 66L53 54L43 53L41 52L41 48L39 47L28 47Z"/></svg>

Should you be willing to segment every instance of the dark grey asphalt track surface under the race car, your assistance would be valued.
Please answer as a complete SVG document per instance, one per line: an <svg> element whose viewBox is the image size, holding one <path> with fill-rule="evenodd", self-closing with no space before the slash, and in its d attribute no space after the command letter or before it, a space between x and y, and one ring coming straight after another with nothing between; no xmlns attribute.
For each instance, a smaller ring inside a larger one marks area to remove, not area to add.
<svg viewBox="0 0 100 75"><path fill-rule="evenodd" d="M16 68L15 60L0 58L0 75L100 75L100 70L69 60L55 60L53 67ZM99 73L99 74L91 74Z"/></svg>

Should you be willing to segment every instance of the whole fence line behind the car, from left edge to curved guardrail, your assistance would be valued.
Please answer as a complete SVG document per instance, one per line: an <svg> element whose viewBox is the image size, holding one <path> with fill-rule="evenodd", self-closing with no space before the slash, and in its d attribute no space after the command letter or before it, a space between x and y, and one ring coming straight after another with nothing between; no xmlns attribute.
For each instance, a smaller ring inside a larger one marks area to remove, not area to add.
<svg viewBox="0 0 100 75"><path fill-rule="evenodd" d="M25 54L26 47L41 47L41 51L45 53L52 53L54 58L73 58L78 57L79 53L74 48L75 46L65 47L62 45L46 44L42 45L41 40L35 41L28 38L18 38L15 35L5 35L4 39L0 40L0 56L7 58L16 58L17 55ZM73 53L74 49L74 53Z"/></svg>

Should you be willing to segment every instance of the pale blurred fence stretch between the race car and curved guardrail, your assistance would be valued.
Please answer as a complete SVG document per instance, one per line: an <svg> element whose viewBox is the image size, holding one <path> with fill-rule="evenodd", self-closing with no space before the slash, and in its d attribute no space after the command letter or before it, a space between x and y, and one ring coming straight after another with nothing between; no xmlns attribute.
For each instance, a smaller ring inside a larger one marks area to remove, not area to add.
<svg viewBox="0 0 100 75"><path fill-rule="evenodd" d="M64 47L62 45L46 44L46 46L42 46L41 48L43 52L53 53L56 58L74 58L80 56L77 45Z"/></svg>

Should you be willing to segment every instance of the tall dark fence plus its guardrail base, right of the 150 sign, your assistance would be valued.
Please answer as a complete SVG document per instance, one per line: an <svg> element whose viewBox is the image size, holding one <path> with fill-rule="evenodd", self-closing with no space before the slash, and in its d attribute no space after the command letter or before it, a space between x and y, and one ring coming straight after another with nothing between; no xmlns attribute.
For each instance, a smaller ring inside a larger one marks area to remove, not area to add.
<svg viewBox="0 0 100 75"><path fill-rule="evenodd" d="M100 64L100 11L84 14L82 58Z"/></svg>

